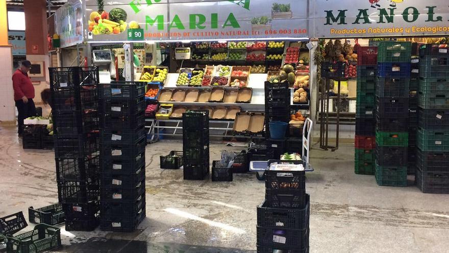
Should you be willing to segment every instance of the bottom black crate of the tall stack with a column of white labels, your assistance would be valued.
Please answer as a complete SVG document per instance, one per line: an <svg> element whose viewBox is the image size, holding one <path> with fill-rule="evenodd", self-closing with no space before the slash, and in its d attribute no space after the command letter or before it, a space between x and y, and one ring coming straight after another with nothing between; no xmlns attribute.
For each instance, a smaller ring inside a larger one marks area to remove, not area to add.
<svg viewBox="0 0 449 253"><path fill-rule="evenodd" d="M137 215L102 217L100 228L102 231L133 232L145 217L145 207L143 207Z"/></svg>

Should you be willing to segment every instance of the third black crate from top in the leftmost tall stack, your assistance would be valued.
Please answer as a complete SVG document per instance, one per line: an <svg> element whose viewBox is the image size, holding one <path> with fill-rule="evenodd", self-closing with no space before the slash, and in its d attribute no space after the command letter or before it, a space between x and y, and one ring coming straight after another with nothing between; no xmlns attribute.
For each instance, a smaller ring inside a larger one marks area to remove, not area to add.
<svg viewBox="0 0 449 253"><path fill-rule="evenodd" d="M97 111L54 112L53 131L56 137L78 137L98 130Z"/></svg>

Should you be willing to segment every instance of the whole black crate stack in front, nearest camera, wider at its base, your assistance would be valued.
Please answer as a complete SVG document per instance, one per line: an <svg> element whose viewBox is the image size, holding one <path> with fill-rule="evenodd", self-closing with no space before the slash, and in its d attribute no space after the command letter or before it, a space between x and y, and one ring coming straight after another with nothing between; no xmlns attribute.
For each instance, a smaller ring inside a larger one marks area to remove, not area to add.
<svg viewBox="0 0 449 253"><path fill-rule="evenodd" d="M257 207L257 252L309 252L310 196L304 171L265 171Z"/></svg>

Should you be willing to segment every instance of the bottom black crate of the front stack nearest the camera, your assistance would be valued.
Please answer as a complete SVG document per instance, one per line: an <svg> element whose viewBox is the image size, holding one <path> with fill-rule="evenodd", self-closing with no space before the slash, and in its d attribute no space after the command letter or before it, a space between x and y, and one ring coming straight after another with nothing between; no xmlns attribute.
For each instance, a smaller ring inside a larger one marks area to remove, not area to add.
<svg viewBox="0 0 449 253"><path fill-rule="evenodd" d="M257 226L257 245L273 248L297 248L305 252L309 246L309 227L288 229Z"/></svg>

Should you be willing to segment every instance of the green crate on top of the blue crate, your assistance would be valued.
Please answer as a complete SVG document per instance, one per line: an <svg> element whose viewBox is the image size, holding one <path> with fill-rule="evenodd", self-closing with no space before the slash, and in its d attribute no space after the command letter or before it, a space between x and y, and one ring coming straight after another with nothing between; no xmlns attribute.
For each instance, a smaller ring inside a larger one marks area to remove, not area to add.
<svg viewBox="0 0 449 253"><path fill-rule="evenodd" d="M377 61L382 62L410 62L412 42L409 41L381 41L378 46Z"/></svg>

